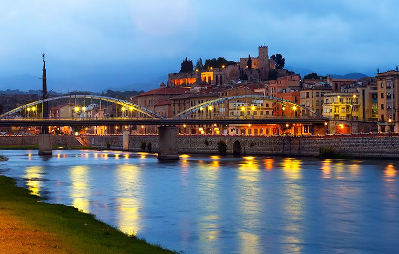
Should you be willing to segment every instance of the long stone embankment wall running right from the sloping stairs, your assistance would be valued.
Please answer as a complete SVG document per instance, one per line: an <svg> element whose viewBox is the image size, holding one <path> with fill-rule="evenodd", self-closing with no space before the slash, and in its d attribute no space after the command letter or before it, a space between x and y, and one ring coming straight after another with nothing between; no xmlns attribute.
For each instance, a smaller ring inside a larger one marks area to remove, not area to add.
<svg viewBox="0 0 399 254"><path fill-rule="evenodd" d="M121 150L122 135L88 136L92 146ZM206 141L205 141L206 140ZM323 137L261 137L261 136L178 136L179 153L217 154L218 141L227 144L227 153L239 142L244 155L315 156L321 147L332 147L340 154L368 158L399 158L399 136L352 135ZM151 142L152 151L158 151L158 136L129 136L129 150L142 151L142 141ZM208 143L208 144L206 144Z"/></svg>

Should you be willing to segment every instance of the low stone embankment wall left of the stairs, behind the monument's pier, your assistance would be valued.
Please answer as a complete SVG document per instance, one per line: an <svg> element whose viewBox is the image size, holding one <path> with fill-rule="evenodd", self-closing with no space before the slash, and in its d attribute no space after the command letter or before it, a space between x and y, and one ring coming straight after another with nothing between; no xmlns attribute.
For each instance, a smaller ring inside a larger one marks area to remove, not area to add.
<svg viewBox="0 0 399 254"><path fill-rule="evenodd" d="M53 145L59 146L81 146L75 137L69 135L54 135L52 138ZM0 146L7 145L37 145L38 136L0 136Z"/></svg>

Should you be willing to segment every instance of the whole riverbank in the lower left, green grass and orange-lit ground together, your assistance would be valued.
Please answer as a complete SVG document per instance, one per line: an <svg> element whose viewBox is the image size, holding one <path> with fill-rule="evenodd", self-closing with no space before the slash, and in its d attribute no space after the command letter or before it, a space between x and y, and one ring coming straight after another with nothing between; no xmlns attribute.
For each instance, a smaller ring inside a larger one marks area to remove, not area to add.
<svg viewBox="0 0 399 254"><path fill-rule="evenodd" d="M128 237L73 207L40 202L5 176L0 176L0 222L0 250L8 253L26 248L26 253L173 253Z"/></svg>

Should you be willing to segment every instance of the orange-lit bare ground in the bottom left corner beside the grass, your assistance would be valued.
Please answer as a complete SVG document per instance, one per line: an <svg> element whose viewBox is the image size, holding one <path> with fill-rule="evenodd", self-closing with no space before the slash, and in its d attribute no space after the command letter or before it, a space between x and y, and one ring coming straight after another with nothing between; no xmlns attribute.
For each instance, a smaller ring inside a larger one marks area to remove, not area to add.
<svg viewBox="0 0 399 254"><path fill-rule="evenodd" d="M57 235L36 230L0 209L0 253L68 254Z"/></svg>

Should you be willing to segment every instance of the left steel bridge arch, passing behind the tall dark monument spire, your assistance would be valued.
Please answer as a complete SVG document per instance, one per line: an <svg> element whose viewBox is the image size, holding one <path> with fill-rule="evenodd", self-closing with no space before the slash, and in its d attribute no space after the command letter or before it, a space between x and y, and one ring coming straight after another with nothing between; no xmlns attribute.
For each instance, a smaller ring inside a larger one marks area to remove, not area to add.
<svg viewBox="0 0 399 254"><path fill-rule="evenodd" d="M15 108L13 110L10 110L8 112L5 112L3 114L0 115L0 118L3 117L7 117L10 115L13 115L15 113L18 113L21 110L24 110L25 108L29 108L32 106L35 106L37 104L40 104L42 102L46 102L46 101L54 101L54 100L59 100L59 99L71 99L71 98L85 98L85 99L99 99L99 100L105 100L105 101L109 101L112 103L117 103L119 105L122 105L124 107L133 107L133 110L138 111L140 113L143 113L144 115L151 117L151 118L160 118L160 119L164 119L164 117L158 115L157 113L142 107L140 105L131 103L130 101L124 100L124 99L117 99L117 98L111 98L111 97L107 97L107 96L99 96L99 95L68 95L68 96L59 96L59 97L53 97L53 98L47 98L47 99L41 99L41 100L37 100L28 104L25 104L23 106L19 106L18 108Z"/></svg>

